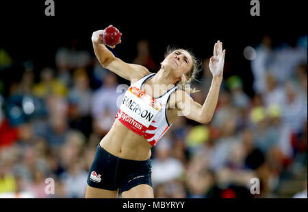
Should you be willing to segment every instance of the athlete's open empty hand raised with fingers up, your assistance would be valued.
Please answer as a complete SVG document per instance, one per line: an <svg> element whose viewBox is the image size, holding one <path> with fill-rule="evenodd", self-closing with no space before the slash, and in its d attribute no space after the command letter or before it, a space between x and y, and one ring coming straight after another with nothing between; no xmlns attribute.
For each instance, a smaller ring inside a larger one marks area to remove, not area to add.
<svg viewBox="0 0 308 212"><path fill-rule="evenodd" d="M224 55L226 50L222 51L222 43L218 40L214 45L214 56L209 59L209 70L213 76L222 76L222 70L224 69Z"/></svg>

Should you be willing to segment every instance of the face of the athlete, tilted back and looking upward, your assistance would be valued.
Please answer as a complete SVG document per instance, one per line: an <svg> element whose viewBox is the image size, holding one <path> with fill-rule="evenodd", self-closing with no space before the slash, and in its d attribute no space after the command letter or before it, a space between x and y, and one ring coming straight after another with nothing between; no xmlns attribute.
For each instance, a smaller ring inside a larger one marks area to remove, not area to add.
<svg viewBox="0 0 308 212"><path fill-rule="evenodd" d="M162 66L170 71L173 78L177 79L177 82L181 81L181 76L187 76L187 73L192 69L192 56L183 49L172 51L165 60L162 62Z"/></svg>

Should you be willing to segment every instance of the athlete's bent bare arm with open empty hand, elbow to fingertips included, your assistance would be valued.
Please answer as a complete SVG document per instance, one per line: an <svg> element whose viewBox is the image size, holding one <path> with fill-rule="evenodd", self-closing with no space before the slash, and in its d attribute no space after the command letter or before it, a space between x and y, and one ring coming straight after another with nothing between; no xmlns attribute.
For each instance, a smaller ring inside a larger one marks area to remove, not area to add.
<svg viewBox="0 0 308 212"><path fill-rule="evenodd" d="M209 60L209 69L213 74L211 87L203 105L194 102L192 97L185 91L177 92L176 106L185 117L198 121L199 123L209 123L214 115L218 102L222 73L224 67L225 50L222 51L222 43L214 45L214 56Z"/></svg>

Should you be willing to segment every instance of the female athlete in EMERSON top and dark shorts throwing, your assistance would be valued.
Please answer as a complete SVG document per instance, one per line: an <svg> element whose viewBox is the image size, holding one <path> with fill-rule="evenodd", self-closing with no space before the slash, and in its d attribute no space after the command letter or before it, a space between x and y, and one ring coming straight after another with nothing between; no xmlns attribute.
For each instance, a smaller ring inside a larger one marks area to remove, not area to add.
<svg viewBox="0 0 308 212"><path fill-rule="evenodd" d="M97 146L88 175L86 198L154 198L151 183L151 147L179 115L209 123L218 102L225 50L218 40L209 60L213 75L203 105L185 89L198 71L197 60L187 50L170 51L157 73L116 58L101 38L92 34L94 53L101 65L131 82L110 131ZM111 48L114 48L112 46ZM108 99L106 99L108 101ZM168 170L166 170L168 172Z"/></svg>

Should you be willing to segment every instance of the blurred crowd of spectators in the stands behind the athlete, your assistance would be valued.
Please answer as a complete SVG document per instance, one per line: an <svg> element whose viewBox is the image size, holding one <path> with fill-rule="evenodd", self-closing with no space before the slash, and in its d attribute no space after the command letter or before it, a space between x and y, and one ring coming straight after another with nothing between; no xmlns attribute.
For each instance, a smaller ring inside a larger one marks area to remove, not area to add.
<svg viewBox="0 0 308 212"><path fill-rule="evenodd" d="M130 62L156 72L149 45L140 40ZM179 117L152 148L155 198L307 198L307 36L276 47L264 36L255 51L253 95L245 79L224 78L209 124ZM211 84L208 62L192 85L202 91L192 95L200 104ZM0 48L0 72L13 65ZM0 198L84 198L97 143L128 86L76 39L56 51L55 67L36 71L25 61L21 80L4 84L1 78Z"/></svg>

